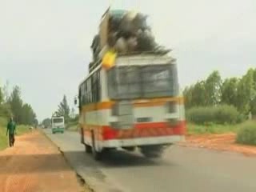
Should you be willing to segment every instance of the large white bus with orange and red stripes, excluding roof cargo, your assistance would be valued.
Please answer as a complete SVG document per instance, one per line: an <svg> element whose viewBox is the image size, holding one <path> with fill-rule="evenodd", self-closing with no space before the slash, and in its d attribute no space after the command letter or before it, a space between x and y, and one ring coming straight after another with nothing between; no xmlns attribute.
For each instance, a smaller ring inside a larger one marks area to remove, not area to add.
<svg viewBox="0 0 256 192"><path fill-rule="evenodd" d="M168 55L118 56L110 69L90 70L78 89L81 142L97 160L119 148L159 158L184 139L184 99Z"/></svg>

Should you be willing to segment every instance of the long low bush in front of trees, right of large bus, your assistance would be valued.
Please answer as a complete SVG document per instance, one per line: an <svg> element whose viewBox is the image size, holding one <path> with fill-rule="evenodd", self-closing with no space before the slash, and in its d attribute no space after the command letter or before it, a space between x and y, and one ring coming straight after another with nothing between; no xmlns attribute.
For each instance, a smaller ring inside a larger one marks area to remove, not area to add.
<svg viewBox="0 0 256 192"><path fill-rule="evenodd" d="M238 122L238 110L234 106L194 107L186 112L189 122L196 124L234 124Z"/></svg>

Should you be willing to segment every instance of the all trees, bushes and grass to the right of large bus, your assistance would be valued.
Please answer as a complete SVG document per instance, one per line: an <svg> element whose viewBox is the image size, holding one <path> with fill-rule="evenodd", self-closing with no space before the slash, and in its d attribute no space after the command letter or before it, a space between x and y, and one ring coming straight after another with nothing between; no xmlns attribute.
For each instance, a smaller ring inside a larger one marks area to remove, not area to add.
<svg viewBox="0 0 256 192"><path fill-rule="evenodd" d="M214 71L205 80L187 86L188 134L237 134L236 141L256 146L256 68L242 78L222 80Z"/></svg>

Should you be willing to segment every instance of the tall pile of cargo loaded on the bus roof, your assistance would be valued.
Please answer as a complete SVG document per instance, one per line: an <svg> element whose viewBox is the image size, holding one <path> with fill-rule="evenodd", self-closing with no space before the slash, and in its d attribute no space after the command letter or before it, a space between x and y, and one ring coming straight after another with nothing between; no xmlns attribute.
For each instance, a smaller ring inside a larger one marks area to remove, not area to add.
<svg viewBox="0 0 256 192"><path fill-rule="evenodd" d="M99 34L95 35L91 48L94 60L106 47L114 48L118 54L141 53L152 51L166 54L166 50L154 40L147 16L134 11L107 10L102 16Z"/></svg>

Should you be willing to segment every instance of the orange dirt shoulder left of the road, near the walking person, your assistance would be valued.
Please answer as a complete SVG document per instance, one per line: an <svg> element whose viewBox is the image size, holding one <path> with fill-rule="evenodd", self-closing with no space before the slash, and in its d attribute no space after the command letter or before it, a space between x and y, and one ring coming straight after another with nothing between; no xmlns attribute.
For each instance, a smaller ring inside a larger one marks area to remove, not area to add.
<svg viewBox="0 0 256 192"><path fill-rule="evenodd" d="M0 165L2 192L85 191L57 147L39 131L17 137L13 148L0 152Z"/></svg>

